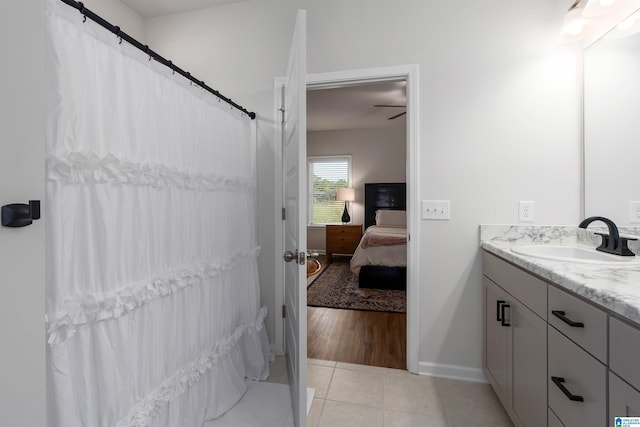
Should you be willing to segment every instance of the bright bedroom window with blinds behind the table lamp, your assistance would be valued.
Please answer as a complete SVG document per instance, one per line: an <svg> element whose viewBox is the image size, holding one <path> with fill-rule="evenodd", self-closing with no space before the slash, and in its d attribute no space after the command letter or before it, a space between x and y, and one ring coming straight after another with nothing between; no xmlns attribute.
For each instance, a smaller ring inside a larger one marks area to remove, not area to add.
<svg viewBox="0 0 640 427"><path fill-rule="evenodd" d="M351 187L351 156L309 157L307 173L309 225L342 222L344 202L336 195L338 188Z"/></svg>

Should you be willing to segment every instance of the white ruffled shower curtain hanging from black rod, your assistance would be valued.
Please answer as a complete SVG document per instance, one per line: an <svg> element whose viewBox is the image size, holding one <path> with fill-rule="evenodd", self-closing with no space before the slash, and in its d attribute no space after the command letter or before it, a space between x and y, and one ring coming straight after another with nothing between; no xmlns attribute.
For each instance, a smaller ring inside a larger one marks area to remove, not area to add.
<svg viewBox="0 0 640 427"><path fill-rule="evenodd" d="M251 120L47 2L50 427L201 426L268 376Z"/></svg>

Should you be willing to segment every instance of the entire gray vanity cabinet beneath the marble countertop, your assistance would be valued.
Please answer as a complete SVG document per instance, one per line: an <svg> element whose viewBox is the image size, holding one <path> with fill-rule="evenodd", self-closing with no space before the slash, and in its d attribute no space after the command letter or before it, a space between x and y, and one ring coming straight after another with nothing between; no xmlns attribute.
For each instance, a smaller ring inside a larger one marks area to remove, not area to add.
<svg viewBox="0 0 640 427"><path fill-rule="evenodd" d="M640 327L483 253L484 370L518 427L640 416Z"/></svg>

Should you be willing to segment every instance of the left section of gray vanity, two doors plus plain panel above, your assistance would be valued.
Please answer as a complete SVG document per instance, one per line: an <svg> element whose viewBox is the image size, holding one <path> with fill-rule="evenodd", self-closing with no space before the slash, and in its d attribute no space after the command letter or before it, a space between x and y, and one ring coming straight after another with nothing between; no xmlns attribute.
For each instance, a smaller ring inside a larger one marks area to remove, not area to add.
<svg viewBox="0 0 640 427"><path fill-rule="evenodd" d="M483 265L485 373L516 426L546 425L546 283L490 254Z"/></svg>

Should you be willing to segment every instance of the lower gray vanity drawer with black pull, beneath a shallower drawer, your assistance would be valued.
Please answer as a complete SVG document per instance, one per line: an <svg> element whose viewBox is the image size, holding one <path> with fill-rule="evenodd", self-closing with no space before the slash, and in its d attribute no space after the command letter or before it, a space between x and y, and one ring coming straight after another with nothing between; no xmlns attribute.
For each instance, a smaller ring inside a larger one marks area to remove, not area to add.
<svg viewBox="0 0 640 427"><path fill-rule="evenodd" d="M566 427L602 427L607 424L607 368L567 337L548 328L549 407ZM557 384L552 377L562 378ZM571 400L562 390L580 396Z"/></svg>

